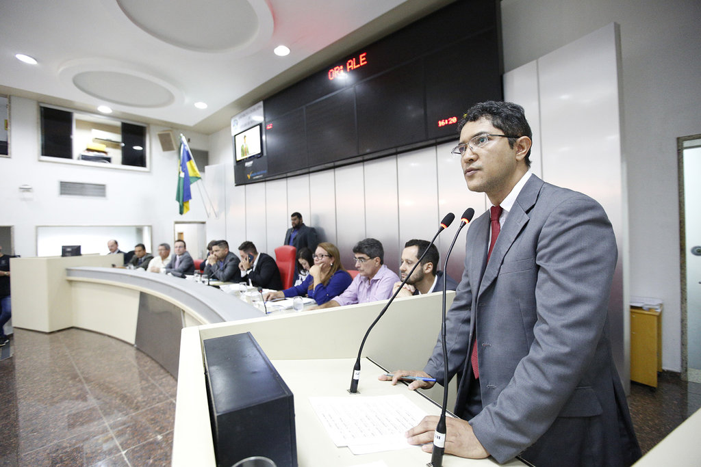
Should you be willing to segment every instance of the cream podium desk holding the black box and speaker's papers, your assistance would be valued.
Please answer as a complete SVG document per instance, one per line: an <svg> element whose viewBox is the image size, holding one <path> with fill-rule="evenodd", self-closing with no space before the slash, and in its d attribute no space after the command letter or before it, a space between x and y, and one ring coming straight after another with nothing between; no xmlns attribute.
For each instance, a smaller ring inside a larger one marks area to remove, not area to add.
<svg viewBox="0 0 701 467"><path fill-rule="evenodd" d="M448 307L454 296L454 291L447 294ZM420 449L409 448L402 452L354 456L346 447L336 448L325 432L318 431L323 428L315 414L313 417L309 416L312 413L309 412L311 407L305 405L308 404L310 389L324 389L325 393L315 394L322 396L333 396L336 392L346 393L362 337L385 304L386 300L383 300L184 328L180 341L172 465L215 466L203 364L203 341L212 337L250 332L294 394L300 467L354 466L372 459L384 459L388 466L423 467L427 454ZM371 358L388 370L423 368L440 332L441 305L441 293L397 298L370 333L362 357ZM379 372L376 365L367 359L364 360L360 376L360 396L366 391L404 393L410 398L416 398L423 407L427 407L427 412L440 413L440 407L424 399L419 393L408 391L403 384L392 386L388 382L379 381ZM455 382L451 382L448 392L448 407L452 408L456 394ZM423 393L439 403L442 401L443 388L439 385ZM320 443L325 444L322 447L325 453L332 453L328 454L332 456L330 461L324 459L327 454L315 454L315 446ZM403 459L408 459L404 456L409 456L411 461L404 461ZM491 459L470 460L455 456L445 456L444 459L446 466L493 464Z"/></svg>

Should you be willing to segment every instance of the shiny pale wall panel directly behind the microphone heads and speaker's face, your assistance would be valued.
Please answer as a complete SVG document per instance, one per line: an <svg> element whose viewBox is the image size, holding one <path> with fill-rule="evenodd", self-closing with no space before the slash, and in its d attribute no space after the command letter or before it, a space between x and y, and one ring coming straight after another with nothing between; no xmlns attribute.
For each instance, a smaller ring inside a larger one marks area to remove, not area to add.
<svg viewBox="0 0 701 467"><path fill-rule="evenodd" d="M467 110L467 109L465 109ZM440 251L441 269L445 255L450 247L450 243L455 237L457 225L465 209L471 207L475 209L475 218L486 210L486 196L484 193L475 193L468 190L468 183L463 176L463 168L460 165L460 156L451 154L450 151L458 144L456 135L455 141L437 146L437 180L438 180L438 211L440 219L449 212L455 214L456 220L447 230L438 237L438 251ZM440 221L439 219L439 221ZM465 225L460 237L458 237L453 253L451 253L448 263L448 274L456 281L460 281L463 275L463 264L465 263L465 235L470 228L470 224Z"/></svg>

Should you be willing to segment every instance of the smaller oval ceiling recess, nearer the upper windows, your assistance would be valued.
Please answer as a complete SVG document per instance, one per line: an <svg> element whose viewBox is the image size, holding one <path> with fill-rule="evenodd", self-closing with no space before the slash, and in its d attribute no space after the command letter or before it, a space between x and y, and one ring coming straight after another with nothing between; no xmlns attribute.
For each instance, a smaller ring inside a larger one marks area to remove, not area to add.
<svg viewBox="0 0 701 467"><path fill-rule="evenodd" d="M73 84L88 95L114 104L164 107L175 101L175 95L163 85L118 71L83 71L73 76Z"/></svg>

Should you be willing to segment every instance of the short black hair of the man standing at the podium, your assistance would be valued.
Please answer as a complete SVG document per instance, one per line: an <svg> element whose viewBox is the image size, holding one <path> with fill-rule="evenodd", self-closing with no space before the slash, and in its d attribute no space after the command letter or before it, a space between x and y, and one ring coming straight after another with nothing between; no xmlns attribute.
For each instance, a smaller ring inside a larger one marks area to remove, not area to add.
<svg viewBox="0 0 701 467"><path fill-rule="evenodd" d="M526 120L526 113L522 106L513 102L487 101L479 102L465 112L463 119L458 123L458 132L463 130L465 123L476 122L480 118L486 118L489 122L504 134L510 134L516 138L508 138L509 146L514 147L518 137L529 137L533 141L531 125ZM531 149L529 148L524 159L527 167L531 167Z"/></svg>

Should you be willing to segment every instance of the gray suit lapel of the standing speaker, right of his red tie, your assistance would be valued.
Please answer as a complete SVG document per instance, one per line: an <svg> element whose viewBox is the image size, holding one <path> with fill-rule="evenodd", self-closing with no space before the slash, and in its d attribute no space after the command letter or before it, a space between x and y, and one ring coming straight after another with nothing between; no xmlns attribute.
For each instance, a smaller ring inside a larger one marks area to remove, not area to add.
<svg viewBox="0 0 701 467"><path fill-rule="evenodd" d="M499 269L501 268L501 263L504 260L504 256L508 253L512 244L514 244L519 233L524 229L529 221L529 211L536 200L538 200L538 193L540 193L540 188L543 186L543 181L537 176L533 175L526 182L524 188L519 193L516 198L516 202L511 207L511 211L506 217L506 221L499 232L499 237L496 239L496 244L494 244L494 249L491 251L491 257L489 258L489 263L487 263L484 268L484 274L482 275L482 281L479 284L479 292L477 293L477 298L482 295L482 292L489 287L492 282L496 280L499 274ZM489 239L489 237L487 237ZM486 241L489 244L489 240ZM486 260L486 253L484 256Z"/></svg>

